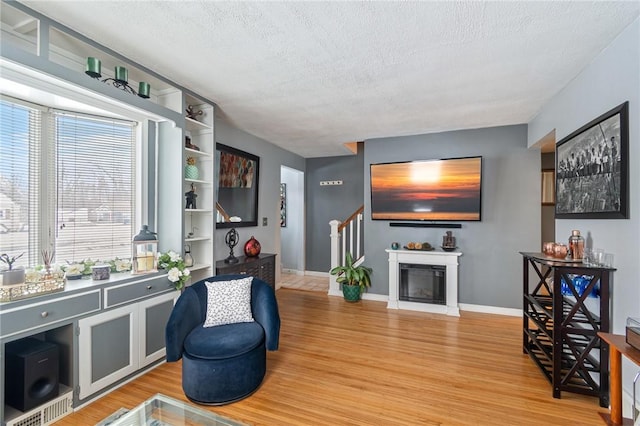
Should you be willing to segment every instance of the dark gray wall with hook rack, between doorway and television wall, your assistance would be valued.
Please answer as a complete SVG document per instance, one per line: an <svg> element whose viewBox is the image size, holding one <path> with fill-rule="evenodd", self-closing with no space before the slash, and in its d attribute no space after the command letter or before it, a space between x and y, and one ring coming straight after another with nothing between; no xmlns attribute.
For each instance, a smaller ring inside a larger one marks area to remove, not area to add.
<svg viewBox="0 0 640 426"><path fill-rule="evenodd" d="M345 220L364 202L364 153L308 158L306 168L306 270L329 272L329 222ZM320 186L323 180L342 180L338 186Z"/></svg>

